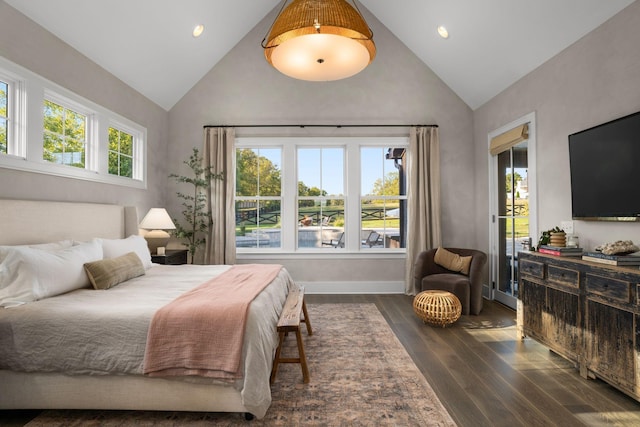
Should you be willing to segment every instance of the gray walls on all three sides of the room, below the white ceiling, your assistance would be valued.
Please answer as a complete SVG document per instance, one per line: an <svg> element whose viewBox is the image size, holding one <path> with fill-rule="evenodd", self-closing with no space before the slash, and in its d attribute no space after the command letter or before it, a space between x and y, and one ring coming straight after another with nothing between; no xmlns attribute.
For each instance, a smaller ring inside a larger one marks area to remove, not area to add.
<svg viewBox="0 0 640 427"><path fill-rule="evenodd" d="M179 212L169 172L202 145L206 124L434 123L440 126L443 244L488 250L487 134L537 114L538 229L571 216L567 135L640 110L640 3L634 2L561 54L472 112L366 10L378 57L332 83L287 78L263 59L266 17L169 112L0 1L0 55L147 128L148 190L0 168L0 198L131 204ZM61 60L62 58L62 60ZM406 129L396 130L406 133ZM364 130L280 129L253 134L362 135ZM385 132L385 134L389 134ZM238 136L251 135L238 129ZM586 247L640 241L640 224L576 221ZM258 260L259 261L259 260ZM273 261L273 260L270 260ZM312 262L309 262L312 261ZM284 260L299 280L403 280L403 260ZM327 268L330 265L331 268Z"/></svg>

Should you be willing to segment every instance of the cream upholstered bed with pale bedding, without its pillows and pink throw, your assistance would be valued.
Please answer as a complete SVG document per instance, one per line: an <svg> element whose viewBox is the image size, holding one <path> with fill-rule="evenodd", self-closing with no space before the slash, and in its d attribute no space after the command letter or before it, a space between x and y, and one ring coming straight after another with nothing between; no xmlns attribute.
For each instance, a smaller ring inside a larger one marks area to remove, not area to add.
<svg viewBox="0 0 640 427"><path fill-rule="evenodd" d="M102 245L122 245L138 234L136 209L117 205L0 200L0 218L0 245L4 247L74 242L76 248L78 242L88 244L85 242L96 238ZM65 247L59 253L72 250ZM8 251L16 252L14 248ZM262 418L271 403L269 375L278 345L276 324L288 291L295 286L285 269L279 270L250 303L242 339L241 378L143 373L145 365L140 358L144 357L154 313L229 268L154 264L145 266L144 274L106 290L85 287L27 304L5 304L8 308L0 308L0 409L240 412ZM46 328L34 329L38 322L44 322ZM73 329L74 325L79 329ZM60 331L61 336L56 336ZM23 332L27 338L20 338ZM74 348L78 344L70 337L83 334L87 338L80 341L85 345ZM61 346L65 340L69 344ZM48 341L63 348L58 357L50 356ZM133 355L109 359L94 341L108 348L120 342ZM38 345L21 347L20 342ZM47 355L42 365L32 360L33 353ZM89 360L89 366L75 365L72 359L79 359L79 363Z"/></svg>

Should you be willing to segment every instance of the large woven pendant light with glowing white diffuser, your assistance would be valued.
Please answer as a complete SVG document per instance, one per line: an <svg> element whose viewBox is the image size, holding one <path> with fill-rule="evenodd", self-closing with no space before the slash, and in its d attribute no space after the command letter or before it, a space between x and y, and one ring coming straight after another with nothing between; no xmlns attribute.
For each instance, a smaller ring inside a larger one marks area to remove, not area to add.
<svg viewBox="0 0 640 427"><path fill-rule="evenodd" d="M285 8L286 3L262 41L267 62L281 73L300 80L340 80L375 58L373 33L355 3L293 0Z"/></svg>

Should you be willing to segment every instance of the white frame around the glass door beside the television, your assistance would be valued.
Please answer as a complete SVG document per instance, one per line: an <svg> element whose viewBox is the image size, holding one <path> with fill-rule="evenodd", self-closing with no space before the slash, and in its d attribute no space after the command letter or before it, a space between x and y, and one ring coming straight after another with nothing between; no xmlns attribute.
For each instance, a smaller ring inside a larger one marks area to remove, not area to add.
<svg viewBox="0 0 640 427"><path fill-rule="evenodd" d="M537 174L536 174L536 113L526 114L504 126L495 129L487 135L487 156L489 159L489 284L483 289L483 295L490 300L497 300L505 305L516 308L515 297L508 297L498 294L498 226L499 203L498 200L498 157L492 156L489 152L491 140L504 132L523 124L529 124L529 139L527 140L527 183L529 186L529 235L532 244L536 244L538 236L538 197L537 197ZM515 248L514 248L515 249Z"/></svg>

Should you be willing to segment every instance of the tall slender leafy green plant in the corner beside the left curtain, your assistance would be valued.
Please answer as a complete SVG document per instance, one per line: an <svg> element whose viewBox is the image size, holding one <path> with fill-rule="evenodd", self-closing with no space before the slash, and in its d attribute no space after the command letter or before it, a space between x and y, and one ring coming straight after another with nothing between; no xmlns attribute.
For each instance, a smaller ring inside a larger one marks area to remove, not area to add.
<svg viewBox="0 0 640 427"><path fill-rule="evenodd" d="M173 220L176 225L173 234L187 241L192 264L198 248L207 241L207 235L213 223L211 213L207 210L207 195L211 189L211 181L222 179L222 174L215 174L210 166L203 166L202 160L200 152L194 148L189 159L183 162L189 167L191 174L189 176L174 173L169 175L169 178L175 179L176 182L189 184L192 187L191 193L176 192L178 198L182 199L184 222L175 218Z"/></svg>

